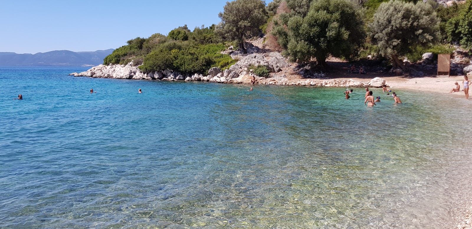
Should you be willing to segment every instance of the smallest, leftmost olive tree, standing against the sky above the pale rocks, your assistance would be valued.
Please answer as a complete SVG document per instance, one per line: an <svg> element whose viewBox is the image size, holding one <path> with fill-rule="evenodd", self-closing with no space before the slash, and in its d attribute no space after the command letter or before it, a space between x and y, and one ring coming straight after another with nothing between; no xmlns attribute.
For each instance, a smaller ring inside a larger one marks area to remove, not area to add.
<svg viewBox="0 0 472 229"><path fill-rule="evenodd" d="M261 0L226 2L224 11L218 16L221 18L218 34L226 40L236 41L244 53L244 39L257 35L261 25L267 22L265 1Z"/></svg>

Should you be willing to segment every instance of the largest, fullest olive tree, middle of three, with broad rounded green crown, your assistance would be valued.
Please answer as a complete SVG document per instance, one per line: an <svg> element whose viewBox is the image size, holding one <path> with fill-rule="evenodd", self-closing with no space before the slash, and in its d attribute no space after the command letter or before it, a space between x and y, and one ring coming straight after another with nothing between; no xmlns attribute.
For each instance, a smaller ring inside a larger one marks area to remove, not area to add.
<svg viewBox="0 0 472 229"><path fill-rule="evenodd" d="M303 5L307 0L287 2ZM313 0L307 11L291 11L279 16L273 34L291 61L308 62L316 57L323 70L326 58L349 57L364 39L360 8L351 0ZM306 16L303 16L306 14Z"/></svg>

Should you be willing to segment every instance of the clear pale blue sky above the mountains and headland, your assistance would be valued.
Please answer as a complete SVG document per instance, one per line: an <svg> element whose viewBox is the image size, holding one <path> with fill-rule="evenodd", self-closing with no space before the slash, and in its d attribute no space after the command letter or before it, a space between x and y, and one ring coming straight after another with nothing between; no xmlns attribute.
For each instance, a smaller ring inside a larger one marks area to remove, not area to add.
<svg viewBox="0 0 472 229"><path fill-rule="evenodd" d="M267 1L269 2L269 1ZM116 49L135 37L220 20L226 0L4 0L0 52Z"/></svg>

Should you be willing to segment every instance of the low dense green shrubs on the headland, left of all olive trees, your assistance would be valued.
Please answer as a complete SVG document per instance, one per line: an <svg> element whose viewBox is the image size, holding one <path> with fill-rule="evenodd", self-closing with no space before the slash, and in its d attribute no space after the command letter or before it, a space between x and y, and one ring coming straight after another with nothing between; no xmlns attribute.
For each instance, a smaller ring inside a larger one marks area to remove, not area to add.
<svg viewBox="0 0 472 229"><path fill-rule="evenodd" d="M226 49L221 39L215 34L215 25L197 27L193 32L187 26L178 27L166 37L156 33L151 37L135 38L127 45L116 49L104 64L134 65L144 72L163 71L166 69L182 73L206 73L211 67L228 68L236 61L221 54Z"/></svg>

